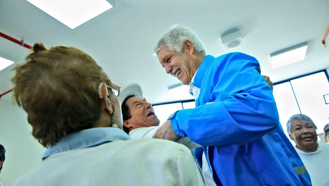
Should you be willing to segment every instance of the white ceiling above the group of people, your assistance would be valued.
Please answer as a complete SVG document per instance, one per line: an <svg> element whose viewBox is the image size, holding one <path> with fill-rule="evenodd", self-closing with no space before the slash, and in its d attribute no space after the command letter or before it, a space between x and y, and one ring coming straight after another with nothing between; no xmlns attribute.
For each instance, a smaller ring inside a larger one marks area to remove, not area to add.
<svg viewBox="0 0 329 186"><path fill-rule="evenodd" d="M153 56L153 47L175 23L190 26L215 57L227 53L220 41L225 31L238 28L240 51L256 57L262 74L273 82L325 69L329 46L321 40L329 24L328 0L116 0L116 6L71 30L25 0L0 1L0 32L33 45L69 45L96 59L113 83L136 82L151 103L193 97L176 96L168 87L179 83L167 75ZM329 43L329 37L327 38ZM304 61L271 69L270 54L303 42L309 43ZM329 44L328 44L329 45ZM229 52L232 52L229 51ZM0 38L0 56L19 64L27 48ZM0 71L0 93L13 87L13 65ZM1 98L11 100L11 95Z"/></svg>

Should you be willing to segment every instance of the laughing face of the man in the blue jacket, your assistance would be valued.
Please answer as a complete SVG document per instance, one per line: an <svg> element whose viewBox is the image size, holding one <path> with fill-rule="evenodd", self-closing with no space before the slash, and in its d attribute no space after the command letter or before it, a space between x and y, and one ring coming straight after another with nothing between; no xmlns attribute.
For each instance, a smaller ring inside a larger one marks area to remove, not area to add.
<svg viewBox="0 0 329 186"><path fill-rule="evenodd" d="M184 46L185 47L185 46ZM191 63L188 54L184 52L180 55L176 51L170 51L167 47L162 47L158 52L160 64L165 68L167 74L175 76L183 85L188 85L195 73L191 70Z"/></svg>

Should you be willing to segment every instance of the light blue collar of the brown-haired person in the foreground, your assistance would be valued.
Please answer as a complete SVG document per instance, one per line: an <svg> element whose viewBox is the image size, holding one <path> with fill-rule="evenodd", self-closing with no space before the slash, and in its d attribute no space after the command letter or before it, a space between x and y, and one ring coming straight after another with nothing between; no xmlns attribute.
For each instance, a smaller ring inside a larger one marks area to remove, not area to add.
<svg viewBox="0 0 329 186"><path fill-rule="evenodd" d="M48 146L42 155L42 160L67 150L99 146L108 142L130 139L128 134L118 128L106 127L81 130L66 135L54 146Z"/></svg>

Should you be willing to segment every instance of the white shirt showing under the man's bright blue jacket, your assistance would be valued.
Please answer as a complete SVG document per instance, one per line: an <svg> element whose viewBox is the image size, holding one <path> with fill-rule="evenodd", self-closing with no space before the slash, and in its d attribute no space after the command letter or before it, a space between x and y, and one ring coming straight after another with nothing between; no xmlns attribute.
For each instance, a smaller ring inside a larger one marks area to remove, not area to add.
<svg viewBox="0 0 329 186"><path fill-rule="evenodd" d="M192 79L191 79L191 82L190 82L190 93L194 96L194 100L196 101L196 99L199 97L199 94L200 94L200 88L198 87L194 87L193 86L193 83L194 83L194 77L195 77L195 74L198 70L195 71ZM213 179L213 174L211 173L211 170L209 168L209 165L208 165L208 162L207 162L207 159L206 159L206 156L205 156L205 153L203 152L202 154L202 177L205 181L205 184L206 186L216 186L216 183Z"/></svg>

